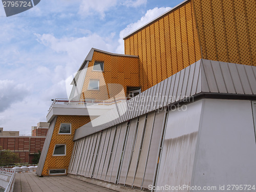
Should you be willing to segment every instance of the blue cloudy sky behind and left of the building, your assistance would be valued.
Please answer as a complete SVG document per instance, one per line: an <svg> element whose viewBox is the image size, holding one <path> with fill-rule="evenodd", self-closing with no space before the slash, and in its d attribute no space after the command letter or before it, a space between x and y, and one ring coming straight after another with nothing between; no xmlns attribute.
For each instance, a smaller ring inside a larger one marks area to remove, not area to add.
<svg viewBox="0 0 256 192"><path fill-rule="evenodd" d="M92 47L123 53L123 36L181 2L41 0L10 17L0 5L0 127L30 134Z"/></svg>

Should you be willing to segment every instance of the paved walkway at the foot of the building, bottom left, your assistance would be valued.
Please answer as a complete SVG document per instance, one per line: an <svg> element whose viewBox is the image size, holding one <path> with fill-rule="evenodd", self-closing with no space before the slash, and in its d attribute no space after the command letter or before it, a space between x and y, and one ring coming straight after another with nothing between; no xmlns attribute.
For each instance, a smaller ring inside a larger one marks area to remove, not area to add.
<svg viewBox="0 0 256 192"><path fill-rule="evenodd" d="M116 192L114 190L93 185L68 176L37 177L35 172L16 173L15 192Z"/></svg>

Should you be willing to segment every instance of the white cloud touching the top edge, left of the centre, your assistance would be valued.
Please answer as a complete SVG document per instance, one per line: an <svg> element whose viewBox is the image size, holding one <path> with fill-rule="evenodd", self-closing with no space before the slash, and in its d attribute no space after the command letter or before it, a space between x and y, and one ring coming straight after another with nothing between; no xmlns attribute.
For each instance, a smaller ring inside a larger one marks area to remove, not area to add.
<svg viewBox="0 0 256 192"><path fill-rule="evenodd" d="M82 1L79 7L79 14L82 16L97 15L100 14L100 18L103 19L105 11L111 7L116 6L117 0L87 0Z"/></svg>

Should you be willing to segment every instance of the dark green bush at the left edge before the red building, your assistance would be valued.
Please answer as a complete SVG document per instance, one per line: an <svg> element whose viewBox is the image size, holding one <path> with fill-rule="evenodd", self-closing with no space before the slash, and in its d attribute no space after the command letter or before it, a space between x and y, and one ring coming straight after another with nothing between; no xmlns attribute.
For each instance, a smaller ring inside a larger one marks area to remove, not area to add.
<svg viewBox="0 0 256 192"><path fill-rule="evenodd" d="M3 150L0 146L0 166L14 165L20 161L19 155L11 152L10 150Z"/></svg>

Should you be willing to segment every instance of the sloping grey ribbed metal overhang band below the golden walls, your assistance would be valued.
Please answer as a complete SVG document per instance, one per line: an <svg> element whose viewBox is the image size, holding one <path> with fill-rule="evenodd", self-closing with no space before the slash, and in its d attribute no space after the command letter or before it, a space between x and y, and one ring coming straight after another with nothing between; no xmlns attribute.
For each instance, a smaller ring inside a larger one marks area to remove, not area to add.
<svg viewBox="0 0 256 192"><path fill-rule="evenodd" d="M119 107L120 111L110 110L81 126L76 130L74 140L200 93L256 95L256 67L200 59L126 103L122 103Z"/></svg>

